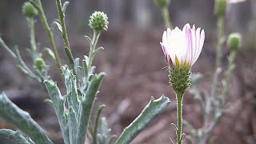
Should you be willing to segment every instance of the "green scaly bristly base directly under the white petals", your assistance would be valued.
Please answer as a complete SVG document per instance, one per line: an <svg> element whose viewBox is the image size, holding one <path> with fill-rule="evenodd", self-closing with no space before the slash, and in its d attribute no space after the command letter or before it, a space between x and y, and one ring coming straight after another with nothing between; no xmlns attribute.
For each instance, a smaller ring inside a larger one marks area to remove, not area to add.
<svg viewBox="0 0 256 144"><path fill-rule="evenodd" d="M176 93L184 93L186 88L191 85L190 74L190 67L188 66L169 67L169 83Z"/></svg>

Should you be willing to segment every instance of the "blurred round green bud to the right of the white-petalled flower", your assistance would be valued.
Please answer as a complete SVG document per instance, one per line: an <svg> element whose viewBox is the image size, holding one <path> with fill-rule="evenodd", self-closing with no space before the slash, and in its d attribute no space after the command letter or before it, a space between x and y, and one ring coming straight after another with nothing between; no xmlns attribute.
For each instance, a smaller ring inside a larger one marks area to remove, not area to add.
<svg viewBox="0 0 256 144"><path fill-rule="evenodd" d="M232 33L227 38L227 47L230 48L230 50L238 50L241 47L241 41L242 37L239 33Z"/></svg>

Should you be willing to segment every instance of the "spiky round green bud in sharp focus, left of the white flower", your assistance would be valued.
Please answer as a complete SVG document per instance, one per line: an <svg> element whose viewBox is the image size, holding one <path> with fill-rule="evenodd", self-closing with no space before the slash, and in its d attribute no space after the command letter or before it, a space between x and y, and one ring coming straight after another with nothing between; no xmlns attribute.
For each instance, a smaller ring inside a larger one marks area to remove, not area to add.
<svg viewBox="0 0 256 144"><path fill-rule="evenodd" d="M90 16L89 26L95 31L107 30L107 15L100 11L95 11L94 14Z"/></svg>

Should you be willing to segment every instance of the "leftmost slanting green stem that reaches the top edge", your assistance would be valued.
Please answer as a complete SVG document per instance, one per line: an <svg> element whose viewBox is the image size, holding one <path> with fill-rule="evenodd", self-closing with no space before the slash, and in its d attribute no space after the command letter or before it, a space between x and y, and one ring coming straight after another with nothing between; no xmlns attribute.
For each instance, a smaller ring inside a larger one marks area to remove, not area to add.
<svg viewBox="0 0 256 144"><path fill-rule="evenodd" d="M62 63L60 62L60 59L58 57L58 50L57 50L57 47L56 47L55 42L54 42L53 33L50 30L50 26L48 25L48 22L47 22L47 19L46 19L46 14L44 13L44 11L42 9L41 0L36 0L35 2L36 2L36 4L34 4L34 2L31 2L31 4L33 4L33 6L35 6L38 10L38 14L40 15L42 25L44 26L44 28L46 30L46 34L47 34L47 36L50 40L50 46L52 47L52 50L54 52L54 57L56 59L56 64L58 66L58 70L59 70L60 74L62 74L62 71L61 71Z"/></svg>

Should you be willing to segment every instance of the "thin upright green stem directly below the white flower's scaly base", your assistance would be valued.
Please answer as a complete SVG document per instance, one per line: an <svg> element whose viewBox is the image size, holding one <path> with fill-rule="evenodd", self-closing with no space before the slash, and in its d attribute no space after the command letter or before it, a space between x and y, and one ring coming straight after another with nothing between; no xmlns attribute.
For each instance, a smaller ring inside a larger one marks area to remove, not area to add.
<svg viewBox="0 0 256 144"><path fill-rule="evenodd" d="M182 99L184 92L176 93L177 100L177 144L182 143Z"/></svg>

